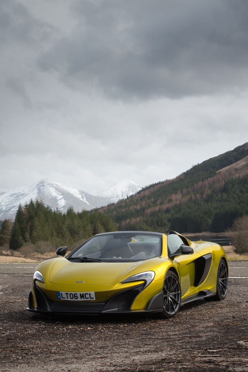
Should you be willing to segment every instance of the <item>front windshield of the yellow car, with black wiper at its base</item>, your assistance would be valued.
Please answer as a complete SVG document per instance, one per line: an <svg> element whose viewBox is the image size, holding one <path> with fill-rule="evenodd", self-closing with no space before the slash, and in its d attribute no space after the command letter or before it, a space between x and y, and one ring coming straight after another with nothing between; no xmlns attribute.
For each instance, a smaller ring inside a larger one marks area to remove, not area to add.
<svg viewBox="0 0 248 372"><path fill-rule="evenodd" d="M150 233L110 233L97 235L83 243L67 257L80 260L83 257L103 262L141 261L161 255L161 235ZM86 260L83 260L84 262ZM88 262L91 262L88 260Z"/></svg>

